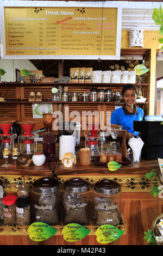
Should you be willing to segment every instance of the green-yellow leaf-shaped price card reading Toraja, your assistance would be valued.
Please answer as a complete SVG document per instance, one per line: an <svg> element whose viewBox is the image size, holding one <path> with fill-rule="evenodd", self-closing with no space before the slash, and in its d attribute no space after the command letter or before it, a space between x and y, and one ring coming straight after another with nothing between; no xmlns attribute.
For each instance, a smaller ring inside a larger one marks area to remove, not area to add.
<svg viewBox="0 0 163 256"><path fill-rule="evenodd" d="M70 223L65 225L65 227L62 229L62 234L64 234L65 241L77 242L87 236L90 231L91 230L87 230L80 224Z"/></svg>

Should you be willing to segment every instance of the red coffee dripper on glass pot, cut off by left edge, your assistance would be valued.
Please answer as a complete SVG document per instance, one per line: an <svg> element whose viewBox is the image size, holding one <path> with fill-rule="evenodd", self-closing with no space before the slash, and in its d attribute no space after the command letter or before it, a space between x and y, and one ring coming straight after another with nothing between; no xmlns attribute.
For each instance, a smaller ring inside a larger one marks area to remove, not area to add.
<svg viewBox="0 0 163 256"><path fill-rule="evenodd" d="M0 147L0 156L3 157L3 150L4 148L9 149L10 153L12 152L12 149L14 148L14 140L17 137L16 133L10 133L10 129L13 125L14 121L1 121L0 127L3 131L3 133L0 134L1 139L1 147Z"/></svg>

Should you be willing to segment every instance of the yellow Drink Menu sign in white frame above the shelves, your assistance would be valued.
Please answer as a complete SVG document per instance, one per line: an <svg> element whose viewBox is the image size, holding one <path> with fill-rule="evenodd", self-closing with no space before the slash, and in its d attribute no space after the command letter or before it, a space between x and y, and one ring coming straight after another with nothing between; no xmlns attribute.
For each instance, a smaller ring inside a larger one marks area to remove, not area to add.
<svg viewBox="0 0 163 256"><path fill-rule="evenodd" d="M107 2L3 2L2 59L120 59L120 7Z"/></svg>

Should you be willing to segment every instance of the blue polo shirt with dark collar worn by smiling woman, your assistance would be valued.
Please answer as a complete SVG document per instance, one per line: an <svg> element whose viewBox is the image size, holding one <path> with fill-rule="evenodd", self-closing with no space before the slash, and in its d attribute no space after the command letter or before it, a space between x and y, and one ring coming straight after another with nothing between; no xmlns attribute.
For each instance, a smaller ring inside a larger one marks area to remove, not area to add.
<svg viewBox="0 0 163 256"><path fill-rule="evenodd" d="M134 112L130 113L125 105L121 108L117 108L111 114L111 124L121 125L122 129L127 130L135 135L136 131L133 128L133 121L142 121L143 109L134 105Z"/></svg>

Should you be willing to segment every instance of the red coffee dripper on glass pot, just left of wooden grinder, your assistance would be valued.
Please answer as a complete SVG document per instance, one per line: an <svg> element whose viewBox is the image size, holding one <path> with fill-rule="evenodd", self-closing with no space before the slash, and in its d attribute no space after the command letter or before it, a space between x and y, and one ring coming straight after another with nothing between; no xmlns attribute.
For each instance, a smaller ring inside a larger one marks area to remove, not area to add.
<svg viewBox="0 0 163 256"><path fill-rule="evenodd" d="M20 155L33 156L37 151L37 139L39 135L37 133L31 134L33 127L35 126L34 121L21 121L20 122L24 133L18 136L18 150Z"/></svg>

